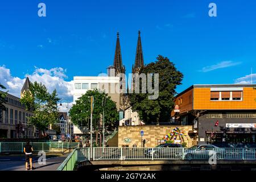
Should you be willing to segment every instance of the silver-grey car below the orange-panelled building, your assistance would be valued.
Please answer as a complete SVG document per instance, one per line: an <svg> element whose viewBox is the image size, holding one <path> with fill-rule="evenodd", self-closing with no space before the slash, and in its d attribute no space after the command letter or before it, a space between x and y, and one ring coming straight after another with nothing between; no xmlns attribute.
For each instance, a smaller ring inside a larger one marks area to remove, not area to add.
<svg viewBox="0 0 256 182"><path fill-rule="evenodd" d="M210 156L210 151L216 152L216 158L220 159L223 154L225 154L225 148L220 148L214 146L213 144L204 144L204 145L196 145L190 148L187 148L184 151L184 158L191 159L208 159Z"/></svg>

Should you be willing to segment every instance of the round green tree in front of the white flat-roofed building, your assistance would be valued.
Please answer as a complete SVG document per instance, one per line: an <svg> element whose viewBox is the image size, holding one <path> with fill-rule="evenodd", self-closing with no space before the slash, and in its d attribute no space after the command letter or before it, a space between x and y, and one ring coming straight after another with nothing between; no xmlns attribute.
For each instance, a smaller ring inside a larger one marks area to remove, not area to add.
<svg viewBox="0 0 256 182"><path fill-rule="evenodd" d="M94 97L93 120L94 122L100 121L100 114L102 114L102 98L106 98L105 105L105 126L109 130L114 129L115 121L118 121L118 111L115 102L108 97L108 94L100 93L97 89L88 90L76 104L69 110L71 121L76 126L88 126L88 119L90 119L90 97ZM90 126L90 124L89 124ZM89 128L88 126L88 128Z"/></svg>

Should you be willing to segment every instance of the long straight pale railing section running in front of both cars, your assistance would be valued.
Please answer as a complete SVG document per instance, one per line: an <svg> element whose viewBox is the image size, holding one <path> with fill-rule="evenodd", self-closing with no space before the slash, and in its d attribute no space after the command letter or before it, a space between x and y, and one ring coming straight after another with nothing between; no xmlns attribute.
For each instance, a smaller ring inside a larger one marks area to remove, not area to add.
<svg viewBox="0 0 256 182"><path fill-rule="evenodd" d="M192 160L216 159L255 160L255 148L118 148L94 147L93 160Z"/></svg>

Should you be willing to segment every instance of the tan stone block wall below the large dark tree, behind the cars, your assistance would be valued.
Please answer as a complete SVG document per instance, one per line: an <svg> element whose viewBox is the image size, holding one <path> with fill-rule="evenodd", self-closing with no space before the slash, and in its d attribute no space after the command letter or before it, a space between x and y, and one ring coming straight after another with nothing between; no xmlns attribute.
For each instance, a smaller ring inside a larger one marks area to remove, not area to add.
<svg viewBox="0 0 256 182"><path fill-rule="evenodd" d="M156 126L156 125L144 125L144 126L119 126L118 127L118 147L128 145L132 147L133 144L137 144L137 147L142 146L141 142L141 130L144 131L143 139L146 139L144 147L155 147L158 145L158 140L162 139L168 133L170 133L175 127L179 127L187 137L184 137L187 147L192 146L193 138L188 136L188 131L192 130L192 126Z"/></svg>

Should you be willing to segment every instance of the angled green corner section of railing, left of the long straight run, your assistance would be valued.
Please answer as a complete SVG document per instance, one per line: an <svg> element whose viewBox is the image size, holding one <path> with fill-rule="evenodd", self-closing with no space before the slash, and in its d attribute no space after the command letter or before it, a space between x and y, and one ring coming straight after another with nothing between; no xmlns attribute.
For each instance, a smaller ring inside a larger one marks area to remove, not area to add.
<svg viewBox="0 0 256 182"><path fill-rule="evenodd" d="M89 161L90 148L76 148L68 155L57 171L73 171L77 163Z"/></svg>

